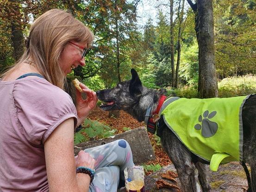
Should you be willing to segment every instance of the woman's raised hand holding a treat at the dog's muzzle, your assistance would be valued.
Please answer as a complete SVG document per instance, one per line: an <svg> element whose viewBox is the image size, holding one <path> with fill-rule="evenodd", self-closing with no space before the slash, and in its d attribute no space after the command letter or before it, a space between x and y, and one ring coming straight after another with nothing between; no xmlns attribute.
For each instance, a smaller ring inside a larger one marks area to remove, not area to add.
<svg viewBox="0 0 256 192"><path fill-rule="evenodd" d="M87 115L95 108L97 103L97 96L94 91L86 87L84 84L80 83L79 85L83 92L86 93L87 98L82 99L81 93L76 89L76 111L77 111L77 125L80 125Z"/></svg>

